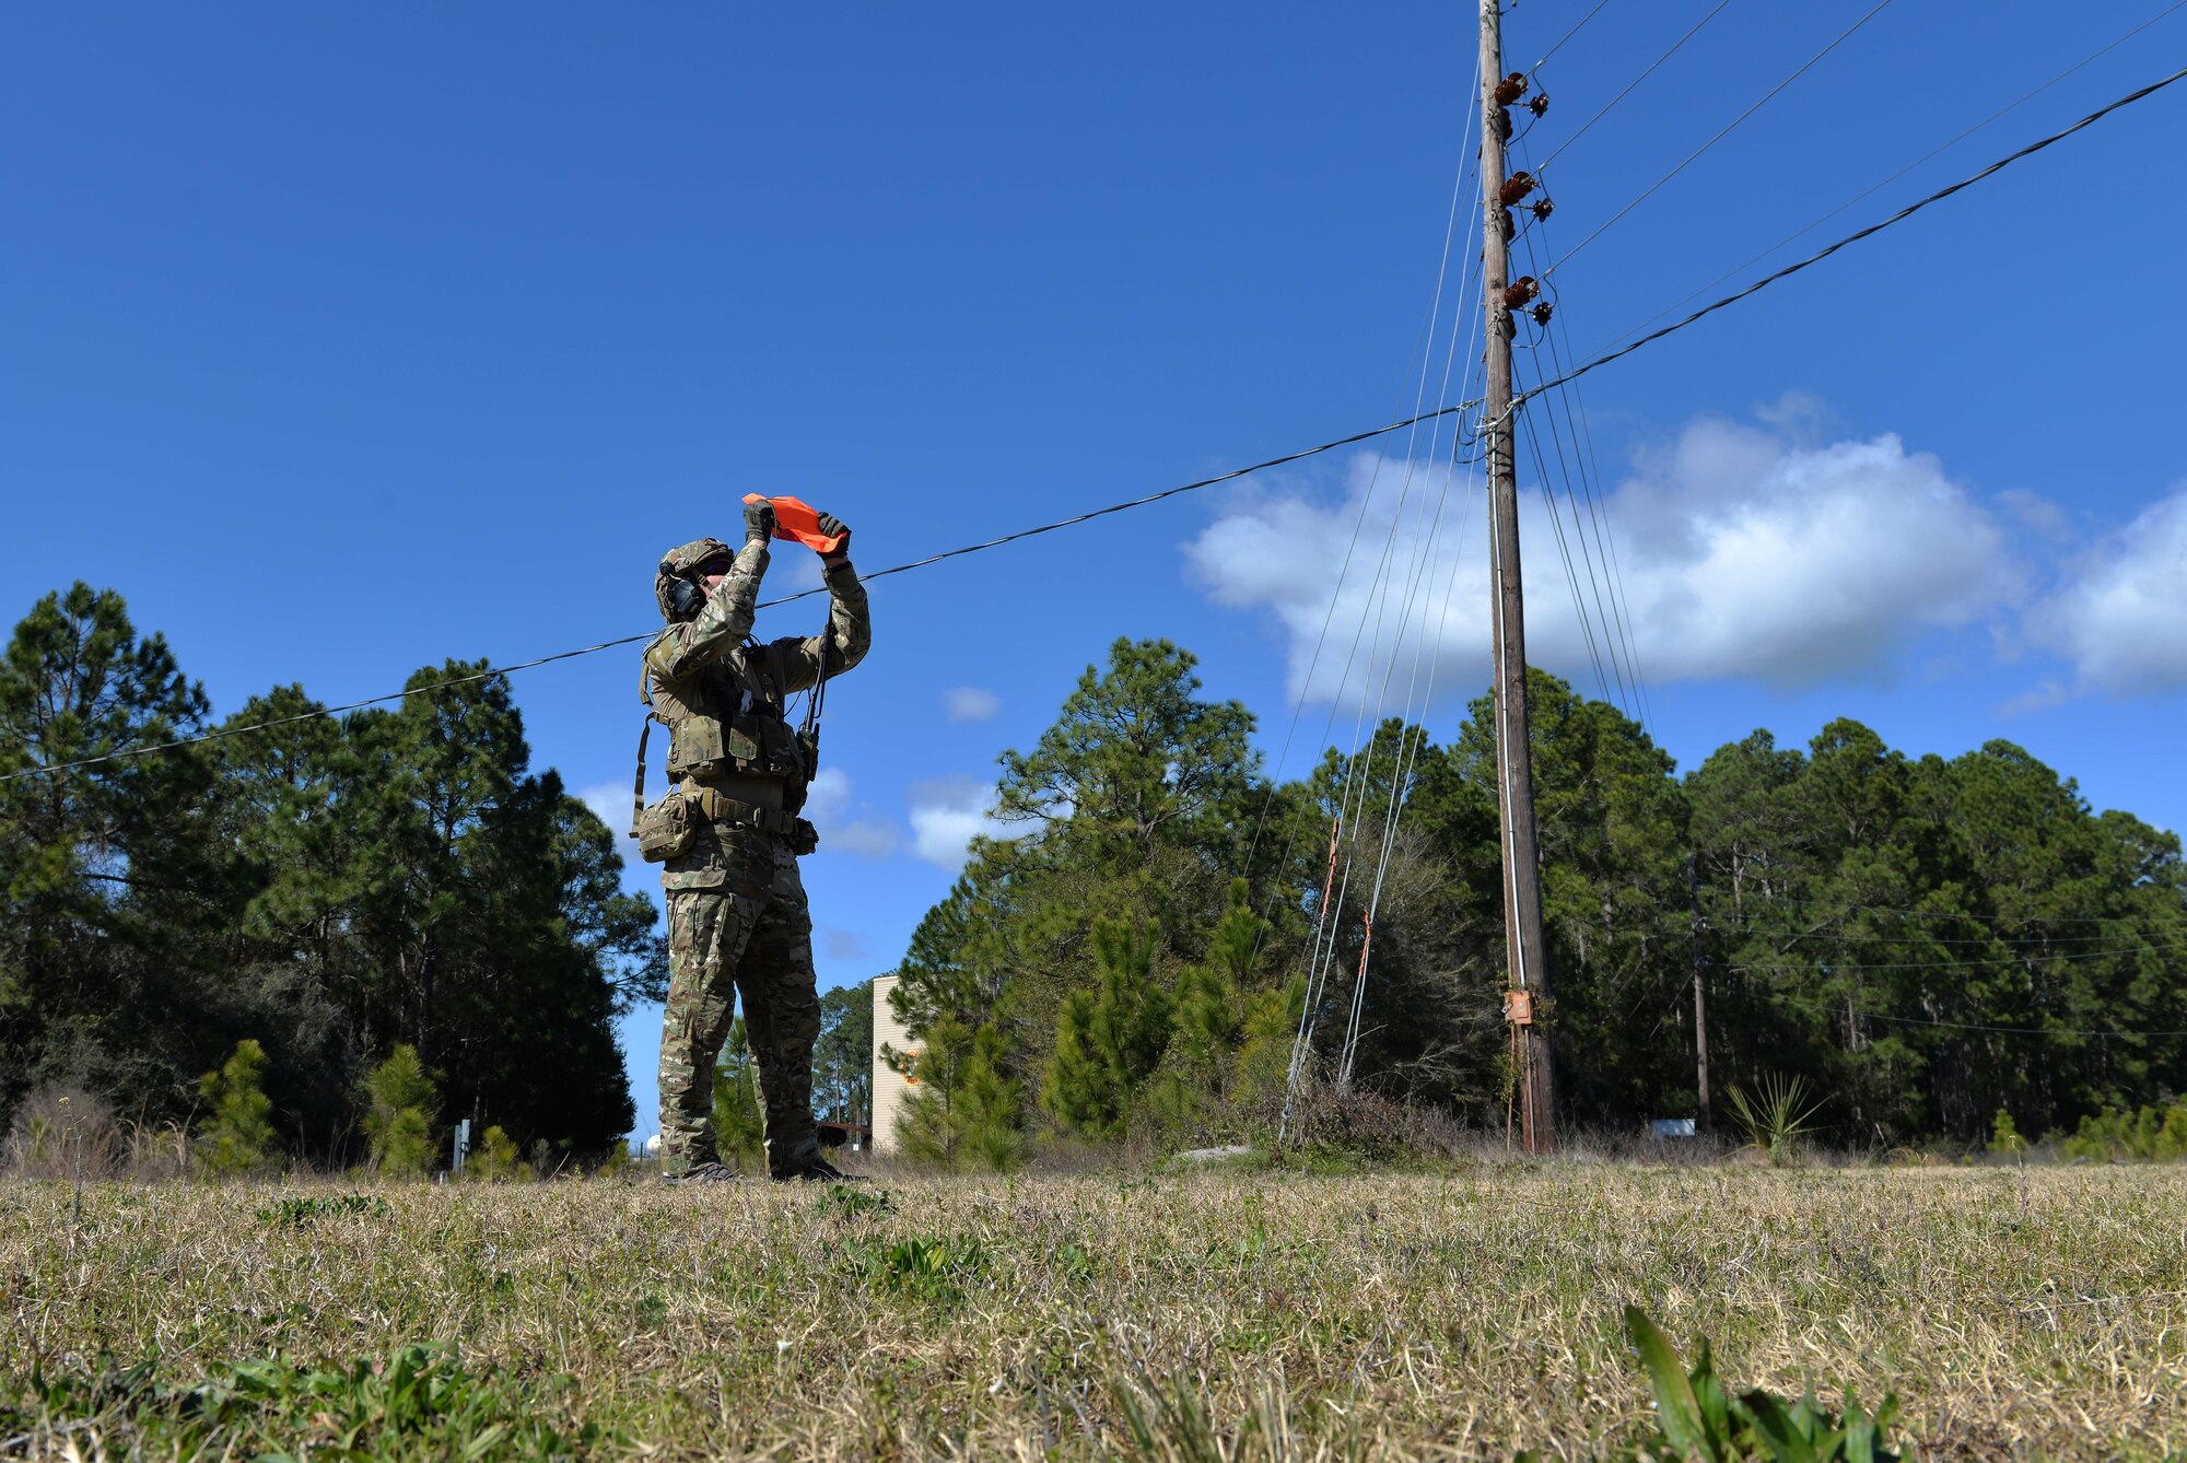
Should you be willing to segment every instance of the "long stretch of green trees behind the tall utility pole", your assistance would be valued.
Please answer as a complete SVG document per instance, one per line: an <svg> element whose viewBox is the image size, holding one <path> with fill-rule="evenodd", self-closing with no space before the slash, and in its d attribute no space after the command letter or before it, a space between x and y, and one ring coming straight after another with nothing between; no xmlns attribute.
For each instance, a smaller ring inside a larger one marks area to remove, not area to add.
<svg viewBox="0 0 2187 1463"><path fill-rule="evenodd" d="M1697 980L1717 1102L1798 1078L1841 1144L1973 1144L1999 1113L2067 1133L2187 1085L2174 833L2010 741L1907 757L1839 719L1680 776L1616 706L1542 671L1531 698L1566 1122L1695 1115ZM910 940L905 1146L1008 1166L1043 1135L1253 1137L1284 1117L1310 986L1308 1091L1500 1131L1494 726L1487 698L1448 741L1387 722L1273 783L1190 652L1118 641L1002 757L1008 835Z"/></svg>

